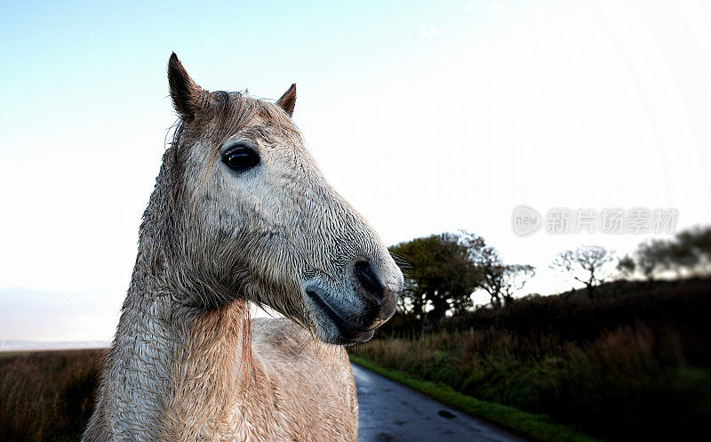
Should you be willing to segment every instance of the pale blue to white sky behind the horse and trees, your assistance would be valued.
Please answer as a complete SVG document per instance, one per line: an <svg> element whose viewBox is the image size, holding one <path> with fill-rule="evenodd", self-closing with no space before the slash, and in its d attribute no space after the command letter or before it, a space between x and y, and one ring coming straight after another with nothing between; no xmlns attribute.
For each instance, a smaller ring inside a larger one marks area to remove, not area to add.
<svg viewBox="0 0 711 442"><path fill-rule="evenodd" d="M702 1L13 2L0 5L0 340L110 339L175 119L165 67L276 99L388 244L468 229L527 287L555 253L644 239L518 237L516 205L711 220Z"/></svg>

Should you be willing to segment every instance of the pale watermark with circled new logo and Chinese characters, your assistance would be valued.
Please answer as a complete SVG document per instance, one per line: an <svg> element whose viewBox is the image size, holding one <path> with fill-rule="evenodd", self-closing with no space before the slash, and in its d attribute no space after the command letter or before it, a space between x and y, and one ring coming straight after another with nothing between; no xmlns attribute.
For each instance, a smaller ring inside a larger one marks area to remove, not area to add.
<svg viewBox="0 0 711 442"><path fill-rule="evenodd" d="M573 209L552 207L546 216L530 205L517 205L511 213L511 226L519 237L528 237L541 228L550 235L581 232L608 235L643 235L674 233L679 211L672 208L604 207L603 209Z"/></svg>

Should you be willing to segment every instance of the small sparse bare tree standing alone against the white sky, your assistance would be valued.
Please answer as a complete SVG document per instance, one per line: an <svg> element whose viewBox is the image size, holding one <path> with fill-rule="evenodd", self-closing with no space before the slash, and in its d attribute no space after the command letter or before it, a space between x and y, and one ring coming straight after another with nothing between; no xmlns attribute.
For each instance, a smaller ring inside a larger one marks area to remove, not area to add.
<svg viewBox="0 0 711 442"><path fill-rule="evenodd" d="M550 268L570 275L587 288L587 297L593 298L595 286L611 276L608 264L614 253L601 245L581 245L575 250L558 253Z"/></svg>

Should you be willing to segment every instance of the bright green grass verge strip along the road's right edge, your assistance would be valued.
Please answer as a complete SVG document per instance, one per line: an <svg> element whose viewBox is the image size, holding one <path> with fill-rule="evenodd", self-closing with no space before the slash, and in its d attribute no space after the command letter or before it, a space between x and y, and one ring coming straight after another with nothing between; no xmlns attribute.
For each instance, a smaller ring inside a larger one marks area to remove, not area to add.
<svg viewBox="0 0 711 442"><path fill-rule="evenodd" d="M600 440L591 438L569 425L553 422L545 414L526 413L511 406L486 402L452 390L448 385L422 381L410 374L377 366L367 359L353 354L349 354L348 357L351 362L387 377L387 379L418 390L447 406L482 418L532 440L540 442L594 442Z"/></svg>

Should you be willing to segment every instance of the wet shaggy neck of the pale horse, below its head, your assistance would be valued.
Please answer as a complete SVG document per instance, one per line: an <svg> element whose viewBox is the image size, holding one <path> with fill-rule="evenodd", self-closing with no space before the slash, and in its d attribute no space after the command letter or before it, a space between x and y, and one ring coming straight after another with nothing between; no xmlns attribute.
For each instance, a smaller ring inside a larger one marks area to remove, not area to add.
<svg viewBox="0 0 711 442"><path fill-rule="evenodd" d="M240 422L252 381L249 306L186 305L171 281L180 266L170 253L164 170L141 226L132 282L89 430L111 440L195 440ZM96 420L96 422L94 422ZM89 433L89 431L87 431ZM107 434L108 433L108 434Z"/></svg>

